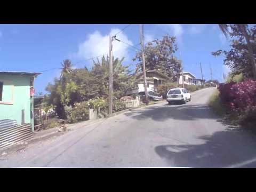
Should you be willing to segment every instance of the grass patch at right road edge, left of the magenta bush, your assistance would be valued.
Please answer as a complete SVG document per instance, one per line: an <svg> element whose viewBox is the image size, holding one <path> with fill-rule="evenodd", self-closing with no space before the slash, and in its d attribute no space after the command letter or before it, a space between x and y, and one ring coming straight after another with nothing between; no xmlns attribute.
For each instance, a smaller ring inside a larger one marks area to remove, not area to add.
<svg viewBox="0 0 256 192"><path fill-rule="evenodd" d="M225 106L222 105L219 94L219 91L215 90L208 101L208 105L213 109L213 111L217 115L223 116L227 113L227 110Z"/></svg>

